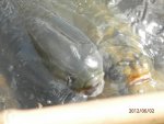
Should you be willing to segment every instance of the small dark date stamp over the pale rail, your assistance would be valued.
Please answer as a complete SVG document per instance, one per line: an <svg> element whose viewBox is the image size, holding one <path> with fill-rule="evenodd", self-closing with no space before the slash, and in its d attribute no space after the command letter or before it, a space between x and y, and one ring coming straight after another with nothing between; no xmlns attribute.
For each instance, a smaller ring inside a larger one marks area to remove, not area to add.
<svg viewBox="0 0 164 124"><path fill-rule="evenodd" d="M129 113L154 113L154 109L129 109Z"/></svg>

